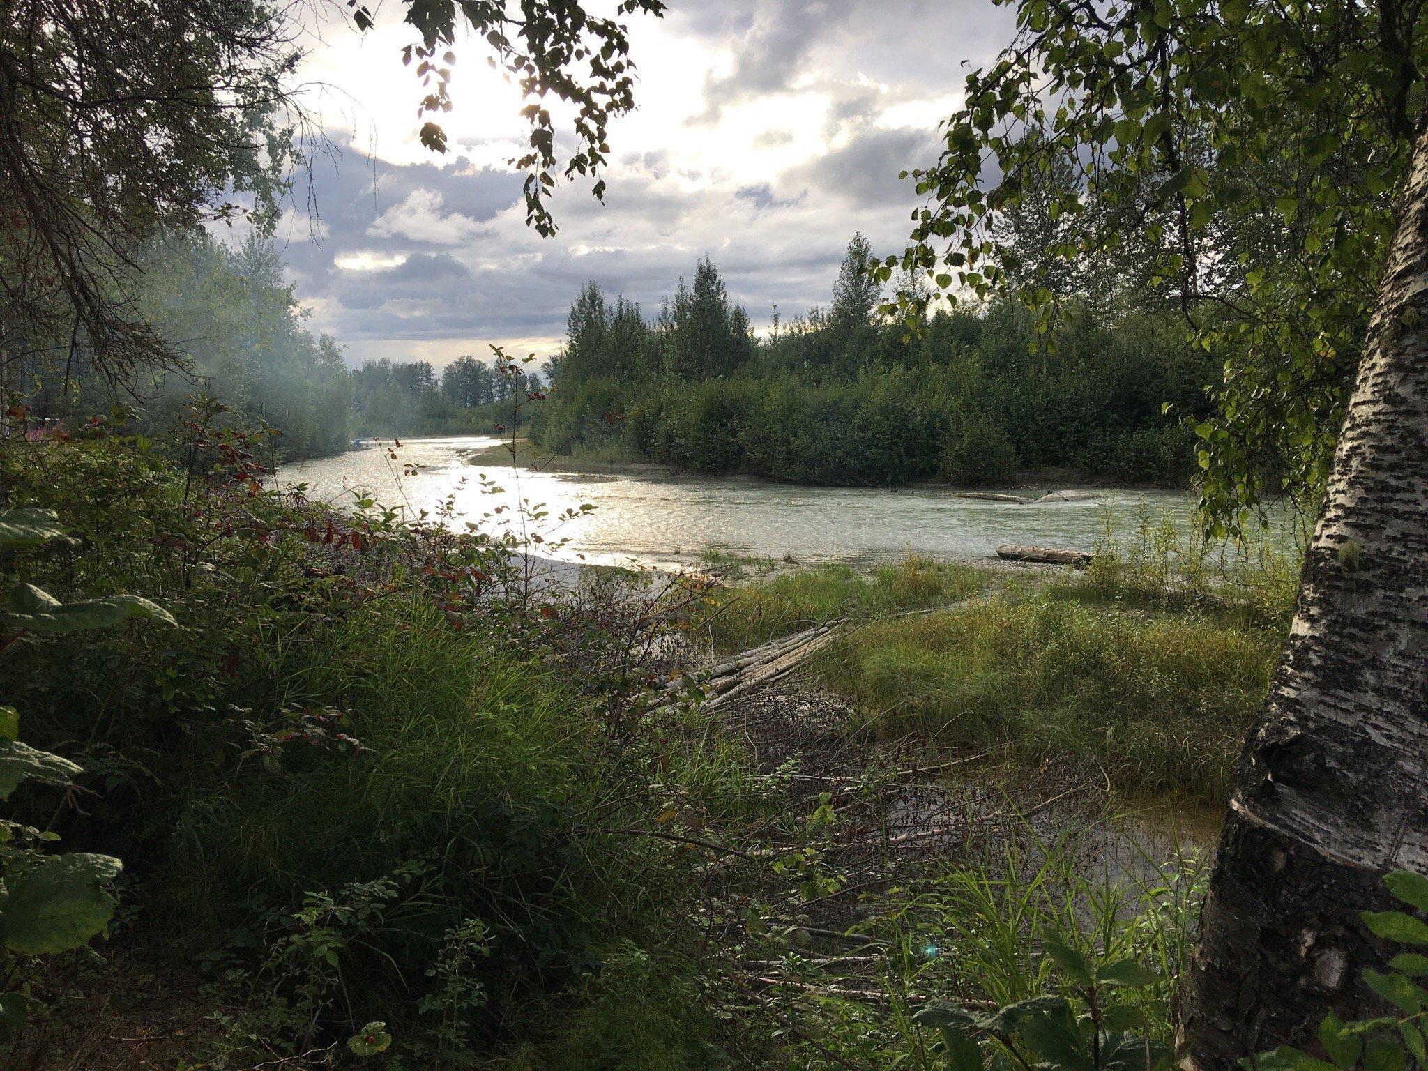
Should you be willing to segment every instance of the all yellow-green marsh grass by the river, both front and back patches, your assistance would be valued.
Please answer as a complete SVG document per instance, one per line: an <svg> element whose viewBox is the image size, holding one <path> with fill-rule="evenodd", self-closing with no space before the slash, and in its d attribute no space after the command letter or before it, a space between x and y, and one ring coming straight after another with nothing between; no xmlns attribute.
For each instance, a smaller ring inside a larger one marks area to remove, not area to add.
<svg viewBox="0 0 1428 1071"><path fill-rule="evenodd" d="M970 600L988 580L972 567L823 565L717 593L705 628L717 650L744 650L867 618L813 673L877 731L1021 768L1088 765L1125 795L1220 803L1282 644L1278 578L1272 594L1174 588L1162 603L1120 568L1092 573ZM1178 613L1147 613L1161 607Z"/></svg>

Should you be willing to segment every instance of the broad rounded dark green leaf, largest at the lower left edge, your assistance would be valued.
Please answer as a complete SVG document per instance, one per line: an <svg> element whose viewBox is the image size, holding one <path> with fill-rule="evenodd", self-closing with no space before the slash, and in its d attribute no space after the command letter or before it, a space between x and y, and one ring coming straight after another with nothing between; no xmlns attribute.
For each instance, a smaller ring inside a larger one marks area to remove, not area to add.
<svg viewBox="0 0 1428 1071"><path fill-rule="evenodd" d="M16 952L53 954L79 948L109 925L119 904L104 885L123 864L113 855L69 853L6 874L0 928Z"/></svg>

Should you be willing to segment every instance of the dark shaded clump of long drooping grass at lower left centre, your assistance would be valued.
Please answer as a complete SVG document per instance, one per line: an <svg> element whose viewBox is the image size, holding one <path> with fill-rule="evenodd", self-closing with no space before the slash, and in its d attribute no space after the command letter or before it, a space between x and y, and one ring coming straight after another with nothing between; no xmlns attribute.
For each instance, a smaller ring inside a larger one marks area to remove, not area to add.
<svg viewBox="0 0 1428 1071"><path fill-rule="evenodd" d="M364 750L311 750L206 785L156 883L160 912L198 948L220 947L234 924L261 925L267 965L248 977L284 1007L303 1007L310 938L331 931L337 960L317 964L324 1018L383 1018L424 1058L443 1038L411 1008L443 998L427 972L444 935L481 920L490 950L471 965L463 1044L516 1045L551 1068L683 1067L685 1042L708 1030L681 988L698 968L677 907L698 891L701 857L614 831L647 825L665 795L745 800L744 760L718 741L675 748L654 785L641 748L611 753L568 671L490 631L443 625L427 607L388 605L288 667L288 703L338 703ZM366 885L384 881L396 895L373 905ZM337 914L294 927L314 892Z"/></svg>

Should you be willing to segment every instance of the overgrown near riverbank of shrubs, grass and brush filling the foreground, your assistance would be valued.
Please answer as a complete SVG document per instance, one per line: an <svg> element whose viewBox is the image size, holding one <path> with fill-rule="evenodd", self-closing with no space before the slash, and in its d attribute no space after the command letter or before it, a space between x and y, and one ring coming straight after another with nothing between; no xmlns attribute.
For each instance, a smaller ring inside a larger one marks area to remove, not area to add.
<svg viewBox="0 0 1428 1071"><path fill-rule="evenodd" d="M1011 905L950 890L1001 867L1018 895L1074 902L1118 874L1134 841L1095 833L1117 810L1214 798L1221 750L1197 758L1190 730L1237 717L1211 701L1217 674L1254 653L1224 638L1258 625L1222 585L1155 587L1165 563L1144 554L1065 595L1058 575L1014 590L907 555L743 585L541 585L520 554L544 538L376 503L338 521L290 481L254 484L240 443L191 470L171 457L110 436L0 458L10 501L77 537L7 551L7 574L63 600L143 593L174 621L26 635L0 660L27 743L91 771L83 811L41 787L17 817L57 814L67 847L126 863L113 972L26 962L54 1007L26 1060L141 1067L143 1044L96 1050L93 1024L106 985L147 992L147 972L183 1007L113 1000L114 1038L164 1034L154 1051L211 1067L356 1067L348 1041L381 1022L368 1034L406 1065L443 1071L477 1054L511 1071L823 1068L834 1041L881 1071L921 1044L931 995L1001 1000L995 971L1014 965L1048 984ZM531 531L555 523L541 513ZM663 687L838 618L804 678L748 705ZM1144 727L1172 714L1187 731L1142 761ZM1164 901L1137 904L1108 925ZM1011 927L1001 965L968 972L995 925ZM907 944L924 934L955 955ZM196 1004L214 1018L178 1037Z"/></svg>

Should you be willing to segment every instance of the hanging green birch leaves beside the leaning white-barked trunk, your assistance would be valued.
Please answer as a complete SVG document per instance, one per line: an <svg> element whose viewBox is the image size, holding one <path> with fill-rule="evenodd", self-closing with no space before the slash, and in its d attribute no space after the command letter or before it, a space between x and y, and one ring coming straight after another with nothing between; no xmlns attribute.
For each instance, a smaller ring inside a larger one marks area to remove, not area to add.
<svg viewBox="0 0 1428 1071"><path fill-rule="evenodd" d="M883 278L901 264L935 293L1011 287L1052 313L1058 263L1138 261L1225 360L1197 427L1211 523L1241 530L1281 487L1315 501L1422 110L1419 9L1015 10L1017 39L967 76L940 159L912 173L927 200ZM1004 223L1057 173L1028 276Z"/></svg>

